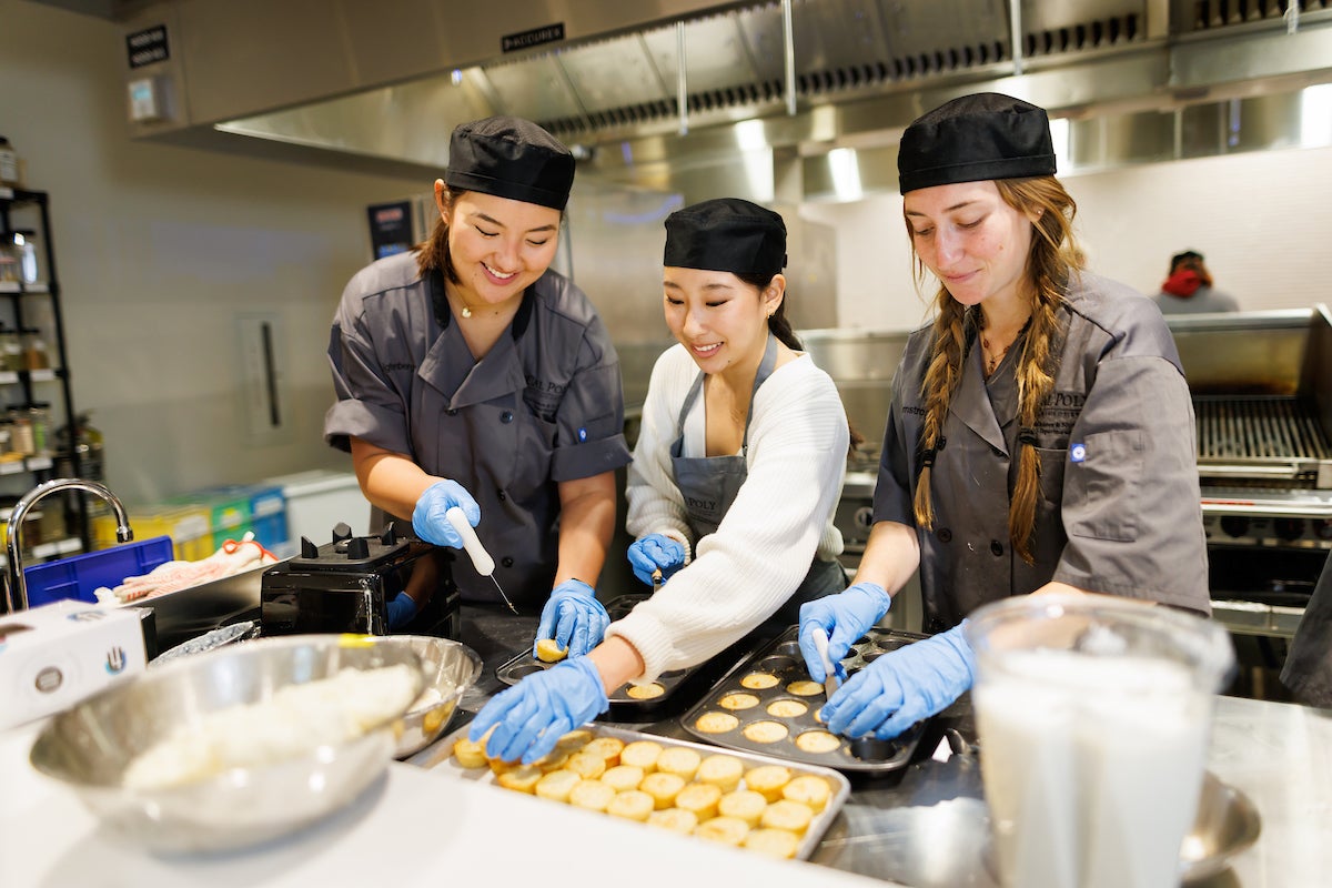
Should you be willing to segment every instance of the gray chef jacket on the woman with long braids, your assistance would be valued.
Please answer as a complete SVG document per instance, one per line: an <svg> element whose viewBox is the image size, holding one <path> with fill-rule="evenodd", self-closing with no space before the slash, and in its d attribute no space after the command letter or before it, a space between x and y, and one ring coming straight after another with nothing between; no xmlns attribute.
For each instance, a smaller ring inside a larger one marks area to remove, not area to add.
<svg viewBox="0 0 1332 888"><path fill-rule="evenodd" d="M1122 284L1082 273L1059 325L1055 385L1035 427L1034 564L1008 541L1022 342L990 379L980 349L968 345L931 473L934 529L918 529L928 632L1050 580L1211 612L1193 406L1160 312ZM875 521L915 526L932 338L932 328L911 334L892 382ZM968 343L975 338L968 329Z"/></svg>

